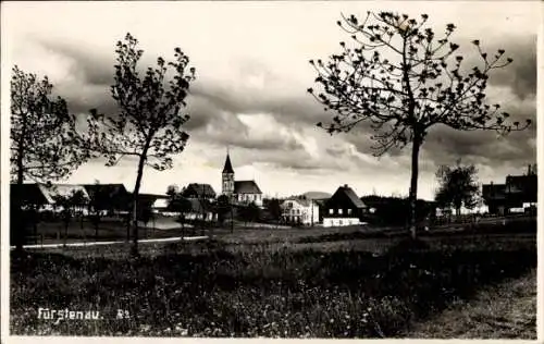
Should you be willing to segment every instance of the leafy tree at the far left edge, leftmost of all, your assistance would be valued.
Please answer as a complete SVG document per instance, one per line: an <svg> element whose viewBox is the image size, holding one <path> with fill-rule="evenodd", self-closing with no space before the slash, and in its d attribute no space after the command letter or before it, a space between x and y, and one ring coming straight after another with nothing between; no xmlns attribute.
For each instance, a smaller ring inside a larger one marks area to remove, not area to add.
<svg viewBox="0 0 544 344"><path fill-rule="evenodd" d="M75 127L75 118L66 101L52 97L53 85L45 76L25 73L14 66L11 77L11 181L22 185L25 180L50 182L71 174L89 158ZM23 200L11 199L12 235L17 250L23 248L25 221Z"/></svg>

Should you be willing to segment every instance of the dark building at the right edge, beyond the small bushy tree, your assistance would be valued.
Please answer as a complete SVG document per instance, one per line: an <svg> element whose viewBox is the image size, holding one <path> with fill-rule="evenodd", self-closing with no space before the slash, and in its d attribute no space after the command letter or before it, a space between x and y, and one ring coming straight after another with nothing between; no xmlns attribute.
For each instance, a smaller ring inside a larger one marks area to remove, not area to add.
<svg viewBox="0 0 544 344"><path fill-rule="evenodd" d="M482 198L490 213L536 211L537 174L536 165L529 165L524 175L508 175L505 184L482 185Z"/></svg>

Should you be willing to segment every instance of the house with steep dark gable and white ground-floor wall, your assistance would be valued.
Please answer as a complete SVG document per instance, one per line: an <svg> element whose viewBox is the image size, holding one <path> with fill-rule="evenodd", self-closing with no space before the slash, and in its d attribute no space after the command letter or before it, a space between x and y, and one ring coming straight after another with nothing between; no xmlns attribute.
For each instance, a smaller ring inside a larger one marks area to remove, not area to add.
<svg viewBox="0 0 544 344"><path fill-rule="evenodd" d="M325 201L323 226L341 226L360 224L367 211L367 206L346 184L338 187Z"/></svg>

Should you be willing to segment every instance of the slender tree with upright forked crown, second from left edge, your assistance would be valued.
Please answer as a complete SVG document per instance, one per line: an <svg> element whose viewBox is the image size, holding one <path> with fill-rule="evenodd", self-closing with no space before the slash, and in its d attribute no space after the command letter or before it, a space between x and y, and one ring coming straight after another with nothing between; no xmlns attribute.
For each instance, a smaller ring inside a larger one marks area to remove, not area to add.
<svg viewBox="0 0 544 344"><path fill-rule="evenodd" d="M189 83L195 79L195 69L188 67L189 58L175 48L174 61L157 59L157 67L148 67L140 76L138 62L144 53L137 39L127 34L124 42L116 45L116 64L111 95L120 112L115 115L99 114L90 110L88 125L94 149L107 157L107 165L115 165L123 157L138 161L132 199L133 255L138 255L137 207L138 194L148 165L158 171L172 168L172 156L181 153L189 135L184 124L189 120L182 114L186 107ZM171 78L166 77L172 73Z"/></svg>

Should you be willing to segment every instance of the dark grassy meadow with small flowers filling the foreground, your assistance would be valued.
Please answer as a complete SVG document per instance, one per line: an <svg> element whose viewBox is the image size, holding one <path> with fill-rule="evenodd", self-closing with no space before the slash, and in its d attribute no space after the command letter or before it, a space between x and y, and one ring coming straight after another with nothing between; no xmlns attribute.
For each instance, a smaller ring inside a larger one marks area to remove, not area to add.
<svg viewBox="0 0 544 344"><path fill-rule="evenodd" d="M416 250L403 248L401 236L362 237L358 228L225 231L206 243L140 245L138 260L126 259L126 245L36 250L12 257L10 328L59 335L436 336L436 327L421 324L534 269L536 237L527 228L533 225L437 232L422 235ZM38 319L40 307L99 310L103 319L55 323ZM118 310L131 318L116 319ZM497 328L467 335L495 337L499 322L490 323ZM535 335L523 329L518 337Z"/></svg>

